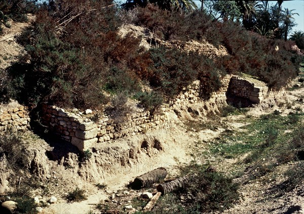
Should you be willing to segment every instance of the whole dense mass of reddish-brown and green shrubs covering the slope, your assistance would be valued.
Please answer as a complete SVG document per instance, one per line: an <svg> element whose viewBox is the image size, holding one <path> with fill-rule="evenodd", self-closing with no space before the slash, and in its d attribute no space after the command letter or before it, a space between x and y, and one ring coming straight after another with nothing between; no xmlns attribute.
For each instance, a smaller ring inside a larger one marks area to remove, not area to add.
<svg viewBox="0 0 304 214"><path fill-rule="evenodd" d="M18 39L27 54L6 71L2 99L15 98L30 107L48 102L84 109L99 108L109 97L123 94L154 111L196 79L206 99L220 87L225 73L248 73L274 89L297 75L300 59L293 42L247 31L233 19L214 21L206 12L186 9L185 2L172 10L156 3L121 10L110 0L40 5L35 22ZM230 55L208 59L174 47L146 50L139 47L141 38L119 36L123 23L141 25L155 39L206 38Z"/></svg>

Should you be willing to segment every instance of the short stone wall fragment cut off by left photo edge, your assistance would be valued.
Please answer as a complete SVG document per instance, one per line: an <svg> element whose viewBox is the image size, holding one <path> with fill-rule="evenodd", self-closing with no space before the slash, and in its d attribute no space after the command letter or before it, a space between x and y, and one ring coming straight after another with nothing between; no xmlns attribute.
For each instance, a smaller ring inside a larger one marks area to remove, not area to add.
<svg viewBox="0 0 304 214"><path fill-rule="evenodd" d="M0 108L0 132L8 129L25 130L29 127L29 115L24 106Z"/></svg>

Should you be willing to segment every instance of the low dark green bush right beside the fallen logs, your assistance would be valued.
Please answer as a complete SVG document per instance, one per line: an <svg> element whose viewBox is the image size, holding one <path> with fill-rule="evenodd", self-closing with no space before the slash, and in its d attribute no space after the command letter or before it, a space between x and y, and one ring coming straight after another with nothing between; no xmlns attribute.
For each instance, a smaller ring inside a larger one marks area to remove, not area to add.
<svg viewBox="0 0 304 214"><path fill-rule="evenodd" d="M188 184L176 194L183 198L182 205L189 210L198 208L200 212L224 210L240 198L239 185L221 173L208 172L206 165L192 161L180 165L182 175L189 176Z"/></svg>

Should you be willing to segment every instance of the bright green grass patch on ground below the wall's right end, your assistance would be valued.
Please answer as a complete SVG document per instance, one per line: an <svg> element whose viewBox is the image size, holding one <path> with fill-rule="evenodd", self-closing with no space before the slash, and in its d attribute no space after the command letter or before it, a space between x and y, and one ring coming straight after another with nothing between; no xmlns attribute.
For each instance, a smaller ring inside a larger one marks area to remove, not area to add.
<svg viewBox="0 0 304 214"><path fill-rule="evenodd" d="M281 150L282 144L291 138L285 131L293 130L303 116L303 113L287 117L276 114L262 115L234 133L222 133L212 142L210 152L225 158L235 158L251 152L247 158L248 162L267 156L268 152Z"/></svg>

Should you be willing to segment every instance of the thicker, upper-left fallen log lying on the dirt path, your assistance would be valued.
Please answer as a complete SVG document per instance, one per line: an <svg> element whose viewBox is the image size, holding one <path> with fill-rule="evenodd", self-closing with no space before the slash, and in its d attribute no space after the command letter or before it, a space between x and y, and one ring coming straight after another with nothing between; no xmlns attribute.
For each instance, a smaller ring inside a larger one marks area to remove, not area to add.
<svg viewBox="0 0 304 214"><path fill-rule="evenodd" d="M167 169L164 167L159 167L139 177L136 177L134 181L129 184L129 187L132 189L141 189L166 178L167 175Z"/></svg>

